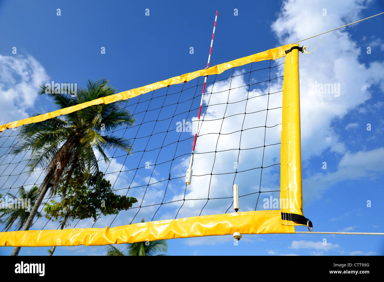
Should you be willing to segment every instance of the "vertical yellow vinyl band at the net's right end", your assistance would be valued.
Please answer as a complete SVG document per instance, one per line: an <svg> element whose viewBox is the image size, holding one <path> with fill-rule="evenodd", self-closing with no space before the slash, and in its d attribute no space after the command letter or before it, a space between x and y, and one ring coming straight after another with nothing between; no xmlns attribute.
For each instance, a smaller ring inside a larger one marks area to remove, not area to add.
<svg viewBox="0 0 384 282"><path fill-rule="evenodd" d="M293 44L292 46L298 46ZM303 215L301 187L299 51L285 56L280 154L281 212ZM289 218L283 225L298 225Z"/></svg>

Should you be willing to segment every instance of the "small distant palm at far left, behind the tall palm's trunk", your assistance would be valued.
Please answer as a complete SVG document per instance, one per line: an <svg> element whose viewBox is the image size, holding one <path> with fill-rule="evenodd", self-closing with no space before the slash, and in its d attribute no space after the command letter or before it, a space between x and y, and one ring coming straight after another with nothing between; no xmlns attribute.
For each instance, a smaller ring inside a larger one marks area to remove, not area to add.
<svg viewBox="0 0 384 282"><path fill-rule="evenodd" d="M25 191L24 187L22 186L19 190L19 197L20 199L31 199L31 205L33 205L36 201L36 198L37 196L39 195L40 191L39 191L39 187L35 186L33 187L30 191ZM10 195L11 197L13 197L13 199L17 199L17 197L15 197L14 195L12 195L11 193L8 193L8 195ZM1 195L0 195L0 198L1 198ZM17 230L20 230L22 229L26 219L28 218L30 212L29 211L26 211L25 208L0 208L0 218L2 218L3 216L5 216L5 220L0 220L1 223L5 224L5 231L4 232L7 232L13 225L13 223L15 223L15 221L18 219L18 223L17 223L17 226L19 226L19 228ZM37 216L40 216L40 213L37 212L36 213Z"/></svg>

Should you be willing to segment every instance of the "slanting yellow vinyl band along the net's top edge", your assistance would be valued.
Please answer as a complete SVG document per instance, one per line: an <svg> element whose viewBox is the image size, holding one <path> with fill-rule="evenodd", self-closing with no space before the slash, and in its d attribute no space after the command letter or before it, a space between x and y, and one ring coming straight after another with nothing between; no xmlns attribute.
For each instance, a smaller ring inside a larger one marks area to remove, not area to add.
<svg viewBox="0 0 384 282"><path fill-rule="evenodd" d="M210 67L209 69L202 69L200 71L195 71L195 72L190 72L188 74L183 74L180 76L175 76L166 80L162 80L159 82L155 82L152 84L148 84L146 86L138 87L135 89L123 91L120 93L116 93L107 97L103 98L98 98L89 102L84 102L72 107L68 108L63 108L60 110L56 111L51 111L50 113L45 113L43 115L38 115L38 116L32 116L30 118L25 118L23 120L18 120L18 121L12 121L10 123L7 123L5 125L0 126L0 132L4 131L5 129L8 128L15 128L18 126L26 125L29 123L35 123L35 122L40 122L44 120L48 120L49 118L54 118L55 116L60 116L60 115L66 115L68 113L73 113L74 111L81 110L83 108L87 108L89 106L94 106L94 105L99 105L99 104L109 104L113 102L117 102L119 100L126 100L129 98L133 98L136 96L139 96L141 94L145 94L148 92L151 92L156 89L160 89L163 87L167 87L169 85L174 85L174 84L179 84L182 82L188 82L192 79L195 79L199 76L206 76L206 75L213 75L213 74L221 74L223 71L226 71L227 69L231 69L232 67L239 67L243 66L245 64L249 64L251 62L259 62L259 61L264 61L264 60L276 60L278 58L284 57L285 56L285 50L289 49L291 47L291 44L269 49L264 52L260 52L257 54L253 54L247 57L243 57L240 59L236 59L227 63L223 63L220 65L216 65L213 67Z"/></svg>

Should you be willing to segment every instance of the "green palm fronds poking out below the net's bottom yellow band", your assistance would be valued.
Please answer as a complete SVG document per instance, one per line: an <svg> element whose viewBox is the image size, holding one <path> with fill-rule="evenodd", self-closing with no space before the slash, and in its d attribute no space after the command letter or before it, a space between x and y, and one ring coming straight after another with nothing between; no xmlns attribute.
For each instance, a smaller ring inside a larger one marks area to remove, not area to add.
<svg viewBox="0 0 384 282"><path fill-rule="evenodd" d="M144 222L144 219L141 222ZM166 240L128 243L127 256L165 256L167 249ZM124 256L124 254L118 248L108 245L106 256Z"/></svg>

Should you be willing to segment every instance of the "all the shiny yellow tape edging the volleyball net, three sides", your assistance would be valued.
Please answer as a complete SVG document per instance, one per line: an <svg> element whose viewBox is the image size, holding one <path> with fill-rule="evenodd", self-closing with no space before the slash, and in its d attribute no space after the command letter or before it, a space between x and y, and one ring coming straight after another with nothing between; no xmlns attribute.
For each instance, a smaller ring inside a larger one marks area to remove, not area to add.
<svg viewBox="0 0 384 282"><path fill-rule="evenodd" d="M65 115L83 108L125 100L138 95L179 84L199 76L220 74L223 71L251 62L275 60L286 56L283 85L283 120L281 141L281 198L295 199L292 209L284 212L303 215L301 195L300 158L300 105L298 88L298 50L287 55L285 50L298 44L288 44L248 57L210 67L189 74L172 77L136 89L99 98L73 107L14 121L0 127L0 131L28 123L35 123L59 115ZM93 246L106 244L134 243L146 240L187 238L233 234L295 233L293 221L281 220L282 210L245 211L222 215L194 216L174 220L151 221L114 228L83 228L65 230L29 230L0 233L0 246Z"/></svg>

